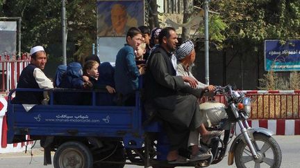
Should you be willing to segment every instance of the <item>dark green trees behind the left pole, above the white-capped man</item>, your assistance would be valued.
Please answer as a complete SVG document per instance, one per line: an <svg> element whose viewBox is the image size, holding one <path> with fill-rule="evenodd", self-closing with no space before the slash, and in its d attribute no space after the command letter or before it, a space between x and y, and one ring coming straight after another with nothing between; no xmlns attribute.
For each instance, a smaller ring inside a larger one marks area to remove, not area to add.
<svg viewBox="0 0 300 168"><path fill-rule="evenodd" d="M0 15L22 17L22 50L28 51L34 45L47 47L60 43L61 5L61 0L0 0ZM66 10L67 41L76 44L78 53L88 55L91 52L83 50L88 50L88 46L92 48L96 39L96 1L69 0L66 1Z"/></svg>

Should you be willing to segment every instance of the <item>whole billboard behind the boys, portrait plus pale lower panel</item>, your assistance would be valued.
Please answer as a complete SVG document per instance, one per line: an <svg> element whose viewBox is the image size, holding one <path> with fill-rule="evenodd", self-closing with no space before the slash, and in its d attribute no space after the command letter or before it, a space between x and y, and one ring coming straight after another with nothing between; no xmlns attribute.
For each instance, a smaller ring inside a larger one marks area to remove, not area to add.
<svg viewBox="0 0 300 168"><path fill-rule="evenodd" d="M131 27L144 25L144 1L97 0L97 55L101 62L115 62L119 49L126 44Z"/></svg>

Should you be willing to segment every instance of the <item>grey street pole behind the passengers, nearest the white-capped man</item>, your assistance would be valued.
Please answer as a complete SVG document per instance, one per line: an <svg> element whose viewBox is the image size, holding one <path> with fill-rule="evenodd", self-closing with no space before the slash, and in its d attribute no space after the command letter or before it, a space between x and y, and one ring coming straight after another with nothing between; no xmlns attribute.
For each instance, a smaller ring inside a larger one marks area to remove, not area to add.
<svg viewBox="0 0 300 168"><path fill-rule="evenodd" d="M67 65L67 35L66 35L66 17L65 0L62 0L62 41L63 41L63 64Z"/></svg>

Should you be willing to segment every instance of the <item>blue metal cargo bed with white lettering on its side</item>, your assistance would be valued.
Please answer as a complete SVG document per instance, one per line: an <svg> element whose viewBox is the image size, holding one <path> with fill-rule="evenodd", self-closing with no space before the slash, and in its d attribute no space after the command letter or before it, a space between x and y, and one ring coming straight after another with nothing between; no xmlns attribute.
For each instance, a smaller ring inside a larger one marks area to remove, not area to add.
<svg viewBox="0 0 300 168"><path fill-rule="evenodd" d="M8 102L8 143L14 142L15 136L23 135L123 138L125 142L142 138L139 98L136 106L50 103L35 105L28 111L24 108L26 104Z"/></svg>

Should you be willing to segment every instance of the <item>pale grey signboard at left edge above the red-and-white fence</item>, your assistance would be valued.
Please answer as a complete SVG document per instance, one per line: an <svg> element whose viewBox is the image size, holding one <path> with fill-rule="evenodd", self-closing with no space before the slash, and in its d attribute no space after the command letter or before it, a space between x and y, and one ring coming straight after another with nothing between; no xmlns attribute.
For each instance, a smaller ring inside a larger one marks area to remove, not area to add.
<svg viewBox="0 0 300 168"><path fill-rule="evenodd" d="M0 21L0 55L16 54L17 21Z"/></svg>

